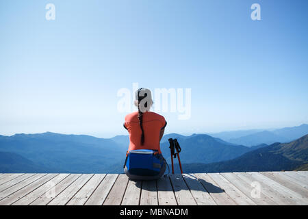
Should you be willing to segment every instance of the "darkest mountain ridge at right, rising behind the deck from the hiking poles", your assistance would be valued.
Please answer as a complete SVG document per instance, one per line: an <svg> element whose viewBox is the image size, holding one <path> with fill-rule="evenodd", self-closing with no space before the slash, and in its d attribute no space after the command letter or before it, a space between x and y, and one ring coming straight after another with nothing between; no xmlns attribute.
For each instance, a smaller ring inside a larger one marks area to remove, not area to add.
<svg viewBox="0 0 308 219"><path fill-rule="evenodd" d="M308 135L290 143L274 143L224 162L183 164L185 172L243 172L304 170L308 164ZM176 167L177 172L179 168Z"/></svg>

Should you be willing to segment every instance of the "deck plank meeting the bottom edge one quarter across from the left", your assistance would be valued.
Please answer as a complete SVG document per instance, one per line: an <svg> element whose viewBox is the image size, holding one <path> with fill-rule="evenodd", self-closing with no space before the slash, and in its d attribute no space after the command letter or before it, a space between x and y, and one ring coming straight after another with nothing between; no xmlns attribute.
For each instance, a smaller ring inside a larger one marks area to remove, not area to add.
<svg viewBox="0 0 308 219"><path fill-rule="evenodd" d="M72 199L66 205L84 205L94 190L99 186L99 183L105 178L105 174L94 175L87 183L84 185L79 192L77 192Z"/></svg>

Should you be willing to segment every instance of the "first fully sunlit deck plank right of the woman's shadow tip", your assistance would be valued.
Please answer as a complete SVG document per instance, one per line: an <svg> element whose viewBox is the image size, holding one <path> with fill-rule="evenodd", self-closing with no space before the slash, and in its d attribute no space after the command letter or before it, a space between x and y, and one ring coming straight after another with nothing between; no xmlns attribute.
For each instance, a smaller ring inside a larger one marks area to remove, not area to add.
<svg viewBox="0 0 308 219"><path fill-rule="evenodd" d="M224 190L224 192L233 198L233 201L235 201L238 205L256 205L251 198L248 198L248 196L246 196L242 191L236 188L219 173L209 173L208 175L220 186L220 188Z"/></svg>

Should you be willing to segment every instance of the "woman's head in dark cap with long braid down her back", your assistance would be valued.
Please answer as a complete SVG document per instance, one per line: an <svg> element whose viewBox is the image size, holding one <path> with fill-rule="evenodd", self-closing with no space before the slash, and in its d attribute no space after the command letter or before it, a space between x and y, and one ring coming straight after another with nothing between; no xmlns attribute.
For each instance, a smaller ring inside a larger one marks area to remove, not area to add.
<svg viewBox="0 0 308 219"><path fill-rule="evenodd" d="M139 88L136 91L135 104L136 106L138 106L138 120L139 120L139 125L142 131L140 143L141 145L143 145L144 144L144 130L142 127L142 116L143 116L143 113L146 112L146 110L149 110L151 105L153 104L151 90L147 88Z"/></svg>

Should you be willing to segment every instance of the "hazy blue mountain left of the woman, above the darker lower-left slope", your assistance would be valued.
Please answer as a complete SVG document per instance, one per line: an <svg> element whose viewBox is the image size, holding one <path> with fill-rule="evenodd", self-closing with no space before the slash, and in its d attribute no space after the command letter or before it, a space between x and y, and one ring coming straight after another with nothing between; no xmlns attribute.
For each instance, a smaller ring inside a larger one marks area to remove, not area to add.
<svg viewBox="0 0 308 219"><path fill-rule="evenodd" d="M109 166L124 162L126 149L110 139L48 132L0 136L0 151L60 172L99 173L109 172Z"/></svg>

